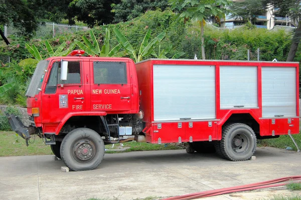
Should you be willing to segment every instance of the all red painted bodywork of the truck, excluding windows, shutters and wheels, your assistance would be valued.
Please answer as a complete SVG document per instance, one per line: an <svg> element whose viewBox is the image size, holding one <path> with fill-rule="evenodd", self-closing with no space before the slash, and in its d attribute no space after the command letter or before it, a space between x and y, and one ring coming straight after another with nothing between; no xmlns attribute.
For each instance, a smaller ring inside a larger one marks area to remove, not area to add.
<svg viewBox="0 0 301 200"><path fill-rule="evenodd" d="M56 93L45 94L46 83L49 79L52 64L56 61L64 59L66 61L81 61L81 83L66 84L63 87L57 85ZM241 61L201 61L201 60L160 60L150 59L134 64L128 58L99 58L99 57L52 57L42 83L41 92L35 97L27 99L28 114L31 115L31 108L39 108L40 116L34 117L37 127L42 127L43 133L59 134L61 128L66 121L73 116L105 116L107 114L136 114L142 110L144 117L142 121L145 123L143 133L146 136L146 142L158 143L159 138L162 143L190 141L208 141L210 136L212 140L221 140L222 126L232 114L250 114L259 124L261 136L271 136L272 130L275 135L299 133L299 113L298 113L298 64L284 62L241 62ZM125 62L127 84L94 84L93 80L93 61L100 62ZM162 127L158 129L158 122L154 122L154 88L153 88L153 66L160 65L214 65L216 72L216 119L214 120L194 120L193 127L189 127L189 120L185 121L169 121L160 122ZM220 82L219 73L220 66L257 66L258 74L258 108L256 109L220 109ZM261 101L261 67L295 67L296 68L296 117L291 118L288 124L287 118L275 119L275 124L271 123L271 119L262 117L262 101ZM97 89L117 89L120 93L115 94L96 94L93 90ZM78 93L69 93L68 90L82 90ZM141 96L139 96L139 90ZM59 108L59 95L68 95L68 108ZM122 98L122 97L130 97ZM75 99L77 98L77 99ZM83 98L78 100L79 98ZM94 105L111 105L110 109L97 108ZM81 110L74 109L77 107ZM140 106L140 107L139 107ZM212 122L212 126L208 126L208 122ZM178 123L182 123L182 127L178 128Z"/></svg>

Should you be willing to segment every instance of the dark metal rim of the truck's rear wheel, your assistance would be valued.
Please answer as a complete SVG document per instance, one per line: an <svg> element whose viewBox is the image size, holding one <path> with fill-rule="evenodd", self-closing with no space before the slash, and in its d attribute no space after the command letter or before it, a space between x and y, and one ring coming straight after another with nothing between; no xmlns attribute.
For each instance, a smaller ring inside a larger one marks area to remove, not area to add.
<svg viewBox="0 0 301 200"><path fill-rule="evenodd" d="M250 147L250 140L246 133L236 134L231 142L232 150L237 154L242 154L246 152Z"/></svg>

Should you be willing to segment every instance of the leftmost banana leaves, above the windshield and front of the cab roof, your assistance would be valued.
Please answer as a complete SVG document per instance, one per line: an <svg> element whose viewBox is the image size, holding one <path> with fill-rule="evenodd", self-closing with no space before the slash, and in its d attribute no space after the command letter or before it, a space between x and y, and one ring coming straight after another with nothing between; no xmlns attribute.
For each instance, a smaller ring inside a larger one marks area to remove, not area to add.
<svg viewBox="0 0 301 200"><path fill-rule="evenodd" d="M51 45L49 44L49 42L46 40L45 41L45 45L48 51L48 54L50 57L54 57L54 56L67 56L74 48L75 48L75 43L71 43L69 48L65 51L63 51L63 49L66 47L66 42L63 42L58 48L57 50L54 52ZM38 49L36 48L36 46L33 44L33 46L31 47L29 44L25 43L25 47L28 49L28 51L33 55L33 58L26 58L24 60L22 60L19 65L20 66L24 66L24 65L28 65L28 64L38 64L39 61L43 60L40 52L38 51Z"/></svg>

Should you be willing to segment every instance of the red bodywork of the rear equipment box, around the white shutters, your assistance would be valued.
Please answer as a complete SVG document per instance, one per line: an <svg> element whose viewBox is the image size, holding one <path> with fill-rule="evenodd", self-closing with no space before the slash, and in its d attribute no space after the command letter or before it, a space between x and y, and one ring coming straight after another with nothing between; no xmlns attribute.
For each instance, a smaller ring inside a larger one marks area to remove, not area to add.
<svg viewBox="0 0 301 200"><path fill-rule="evenodd" d="M214 65L216 69L216 119L215 120L185 120L185 121L169 121L155 122L154 121L154 90L153 90L153 66L154 65ZM258 108L256 109L220 109L220 81L219 73L220 66L257 66L257 91L258 91ZM271 119L262 118L262 99L261 99L261 67L295 67L296 69L296 115L295 118L290 118L291 123L288 123L288 118L277 118L275 124L271 123ZM271 136L272 131L275 135L287 135L299 133L299 88L298 88L298 63L285 62L247 62L247 61L216 61L216 60L161 60L149 59L136 63L136 71L138 76L139 90L142 91L140 96L140 110L144 112L145 129L143 132L146 135L146 142L158 143L161 142L179 142L181 137L182 142L189 142L190 136L193 141L208 141L209 136L212 140L221 140L222 126L231 117L232 114L250 114L259 124L260 136ZM189 122L193 122L193 127L189 128ZM212 122L212 127L208 126L208 122ZM178 123L182 123L182 128L178 128ZM158 124L162 128L158 129Z"/></svg>

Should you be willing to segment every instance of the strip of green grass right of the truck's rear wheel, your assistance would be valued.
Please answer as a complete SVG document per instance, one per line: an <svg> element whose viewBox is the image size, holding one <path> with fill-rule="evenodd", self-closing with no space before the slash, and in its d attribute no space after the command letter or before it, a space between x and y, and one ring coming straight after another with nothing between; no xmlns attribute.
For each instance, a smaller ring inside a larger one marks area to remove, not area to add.
<svg viewBox="0 0 301 200"><path fill-rule="evenodd" d="M291 135L295 142L297 143L299 149L301 148L301 134L293 134ZM261 147L276 147L285 149L286 147L291 147L292 150L296 151L297 148L293 144L292 140L288 135L281 135L279 138L273 139L265 139L265 140L258 140L258 146Z"/></svg>

